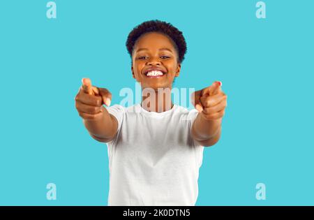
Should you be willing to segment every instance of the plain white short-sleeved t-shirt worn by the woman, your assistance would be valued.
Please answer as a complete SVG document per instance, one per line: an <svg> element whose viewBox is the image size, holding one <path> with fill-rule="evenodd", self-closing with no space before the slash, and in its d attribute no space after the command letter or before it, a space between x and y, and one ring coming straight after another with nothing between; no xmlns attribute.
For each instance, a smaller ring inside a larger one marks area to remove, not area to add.
<svg viewBox="0 0 314 220"><path fill-rule="evenodd" d="M119 124L107 142L108 205L195 205L204 149L190 135L197 110L149 112L140 103L107 110Z"/></svg>

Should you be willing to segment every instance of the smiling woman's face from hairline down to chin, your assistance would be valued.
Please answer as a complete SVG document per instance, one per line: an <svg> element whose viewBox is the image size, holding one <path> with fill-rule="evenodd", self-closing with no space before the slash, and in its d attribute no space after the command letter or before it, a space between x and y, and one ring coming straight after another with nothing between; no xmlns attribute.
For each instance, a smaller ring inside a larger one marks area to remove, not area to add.
<svg viewBox="0 0 314 220"><path fill-rule="evenodd" d="M170 38L157 32L144 34L137 39L133 48L133 78L140 82L142 89L171 89L174 78L180 73L181 64L178 64L177 59L177 52ZM146 75L149 68L163 71L163 75Z"/></svg>

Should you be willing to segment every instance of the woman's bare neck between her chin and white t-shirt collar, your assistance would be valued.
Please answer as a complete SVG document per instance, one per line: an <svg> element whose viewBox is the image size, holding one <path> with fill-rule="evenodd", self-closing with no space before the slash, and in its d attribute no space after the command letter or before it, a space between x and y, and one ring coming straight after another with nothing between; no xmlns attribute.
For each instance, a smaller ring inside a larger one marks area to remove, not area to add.
<svg viewBox="0 0 314 220"><path fill-rule="evenodd" d="M149 112L165 112L171 110L171 88L149 89L142 91L142 108Z"/></svg>

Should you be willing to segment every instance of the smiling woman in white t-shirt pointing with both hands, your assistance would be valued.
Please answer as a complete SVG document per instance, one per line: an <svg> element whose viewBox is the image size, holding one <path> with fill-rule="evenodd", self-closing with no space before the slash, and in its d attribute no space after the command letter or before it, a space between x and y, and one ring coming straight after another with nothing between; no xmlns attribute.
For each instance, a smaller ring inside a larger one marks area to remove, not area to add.
<svg viewBox="0 0 314 220"><path fill-rule="evenodd" d="M77 98L83 117L84 111L96 115L92 121L84 120L89 133L107 143L108 205L195 205L204 146L214 145L220 138L225 108L221 84L195 92L198 98L193 104L204 107L202 114L172 103L172 84L181 70L186 41L169 23L153 20L140 24L128 35L126 46L132 76L142 88L142 102L104 108L101 98L111 100L110 92L93 90L91 83L83 89L96 95ZM91 108L88 104L93 99L96 106ZM207 121L205 115L215 120Z"/></svg>

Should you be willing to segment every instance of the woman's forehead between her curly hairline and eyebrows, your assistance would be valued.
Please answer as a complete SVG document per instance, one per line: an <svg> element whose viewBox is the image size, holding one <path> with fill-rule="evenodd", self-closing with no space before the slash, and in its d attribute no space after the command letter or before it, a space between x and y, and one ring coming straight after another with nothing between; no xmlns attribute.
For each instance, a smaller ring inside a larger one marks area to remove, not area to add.
<svg viewBox="0 0 314 220"><path fill-rule="evenodd" d="M157 32L150 32L140 36L134 45L134 52L136 52L138 48L148 48L149 50L169 48L172 51L174 50L172 40L165 34Z"/></svg>

